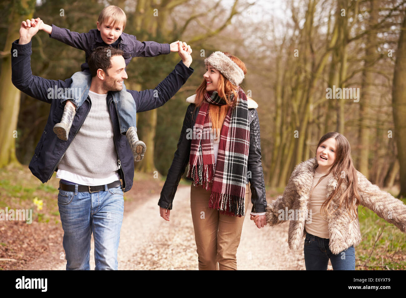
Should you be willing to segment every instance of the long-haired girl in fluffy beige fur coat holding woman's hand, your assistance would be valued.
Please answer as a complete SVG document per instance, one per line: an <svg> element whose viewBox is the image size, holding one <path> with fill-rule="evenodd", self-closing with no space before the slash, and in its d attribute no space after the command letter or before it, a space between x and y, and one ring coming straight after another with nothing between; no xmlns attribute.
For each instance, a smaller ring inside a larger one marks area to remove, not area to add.
<svg viewBox="0 0 406 298"><path fill-rule="evenodd" d="M316 157L295 167L283 195L266 208L269 225L290 220L290 249L299 249L305 236L306 270L327 270L328 259L333 270L355 270L360 204L406 232L406 205L358 172L350 153L346 137L326 133Z"/></svg>

